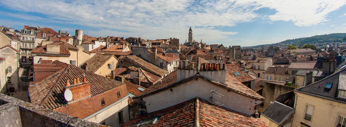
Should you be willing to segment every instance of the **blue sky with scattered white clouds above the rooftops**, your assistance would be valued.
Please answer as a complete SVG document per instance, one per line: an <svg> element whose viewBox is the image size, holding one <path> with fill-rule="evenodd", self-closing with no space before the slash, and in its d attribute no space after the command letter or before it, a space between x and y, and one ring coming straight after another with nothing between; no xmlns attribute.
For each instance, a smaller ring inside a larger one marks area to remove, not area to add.
<svg viewBox="0 0 346 127"><path fill-rule="evenodd" d="M346 0L1 0L0 26L255 46L346 32Z"/></svg>

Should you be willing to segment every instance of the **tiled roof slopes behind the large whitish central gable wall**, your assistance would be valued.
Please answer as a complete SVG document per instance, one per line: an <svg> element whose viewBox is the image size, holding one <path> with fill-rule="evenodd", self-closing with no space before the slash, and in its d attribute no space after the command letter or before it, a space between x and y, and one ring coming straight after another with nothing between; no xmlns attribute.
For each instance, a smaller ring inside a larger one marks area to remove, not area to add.
<svg viewBox="0 0 346 127"><path fill-rule="evenodd" d="M144 96L148 96L151 94L154 94L156 92L160 92L162 90L174 87L176 85L182 84L184 82L188 82L191 80L194 80L196 77L199 77L201 79L207 80L208 82L215 84L217 86L220 86L222 88L231 90L233 92L236 92L238 94L244 95L246 97L249 98L254 98L254 99L258 99L258 100L264 100L264 97L262 97L261 95L258 95L255 91L251 90L250 88L246 87L244 84L242 84L240 81L238 81L237 79L235 79L233 76L230 76L230 74L226 73L226 83L225 84L221 84L219 82L215 82L215 81L210 81L200 75L194 75L190 78L184 79L180 82L177 82L177 71L173 71L171 72L169 75L167 75L166 77L164 77L162 79L161 83L156 83L150 87L148 87L146 90L144 90L140 95L136 96L135 98L140 98L140 97L144 97Z"/></svg>

